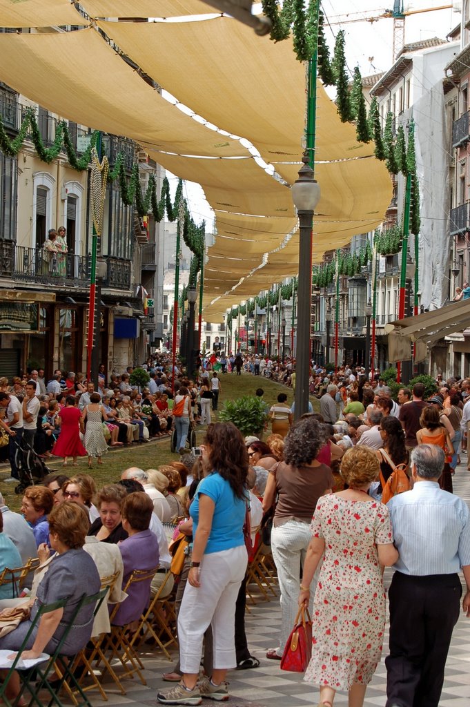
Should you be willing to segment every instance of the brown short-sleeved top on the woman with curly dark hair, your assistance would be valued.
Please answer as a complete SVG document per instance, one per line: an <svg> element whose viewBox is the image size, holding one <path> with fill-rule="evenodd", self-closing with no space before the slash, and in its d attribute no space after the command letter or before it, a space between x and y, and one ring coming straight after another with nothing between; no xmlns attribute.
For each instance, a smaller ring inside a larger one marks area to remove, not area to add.
<svg viewBox="0 0 470 707"><path fill-rule="evenodd" d="M280 462L269 473L276 479L278 493L275 527L289 520L310 523L319 497L334 487L333 474L326 464L319 464L318 467L293 467Z"/></svg>

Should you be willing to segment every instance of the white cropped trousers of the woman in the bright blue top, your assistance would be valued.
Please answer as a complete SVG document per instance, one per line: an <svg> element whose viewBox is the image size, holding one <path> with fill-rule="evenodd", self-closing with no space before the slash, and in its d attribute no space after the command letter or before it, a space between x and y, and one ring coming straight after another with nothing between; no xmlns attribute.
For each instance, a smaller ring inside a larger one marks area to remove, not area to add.
<svg viewBox="0 0 470 707"><path fill-rule="evenodd" d="M224 670L237 665L235 656L235 602L247 571L245 545L204 555L201 586L184 588L178 614L181 672L199 673L202 641L212 626L213 668Z"/></svg>

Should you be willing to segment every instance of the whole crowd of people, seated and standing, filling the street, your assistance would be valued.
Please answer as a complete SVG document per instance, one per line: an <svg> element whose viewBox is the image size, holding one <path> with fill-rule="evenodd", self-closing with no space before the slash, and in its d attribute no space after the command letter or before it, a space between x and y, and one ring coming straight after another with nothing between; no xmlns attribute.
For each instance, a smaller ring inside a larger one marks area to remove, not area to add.
<svg viewBox="0 0 470 707"><path fill-rule="evenodd" d="M63 401L59 376L60 392L49 392L59 404L62 425L54 449L68 440L68 416L77 444L85 419L89 428L84 451L59 446L64 457L74 460L86 453L93 460L105 451L100 446L102 421L107 423L107 407L115 405L107 402L109 393L110 401L119 397L121 406L127 403L125 398L136 400L139 395L168 396L172 402L168 417L177 431L181 458L158 469L125 469L121 479L100 489L88 474L52 474L43 484L25 489L21 516L11 513L0 498L2 535L8 535L11 523L13 544L8 547L2 537L5 556L16 548L22 561L25 553L40 557L40 580L33 583L28 600L32 619L41 602L54 600L59 586L78 597L81 582L75 563L83 564L83 552L94 561L97 546L117 547L119 557L113 551L110 563L118 562L122 569L121 589L132 571L155 569L153 579L138 592L117 598L121 603L113 620L119 625L135 629L150 597L171 575L165 588L175 592L179 660L163 675L175 685L158 691L158 701L184 705L197 705L204 698L223 701L229 694L227 670L259 665L247 644L245 602L249 556L263 544L264 551L272 553L281 595L279 634L266 658L281 660L298 606L310 607L312 659L305 680L319 685L320 705L332 707L336 691L342 690L348 691L350 707L361 707L382 654L386 618L382 575L390 566L394 574L385 660L387 707L437 707L460 612L460 571L466 583L462 607L470 616L469 508L452 493L452 476L466 449L470 380L440 382L429 399L424 399L421 383L412 390L402 387L395 402L380 375L368 380L363 370L347 366L327 375L312 366L310 382L319 396L320 412L307 412L294 422L287 394L280 392L276 404L265 404L266 430L271 423L271 434L264 440L242 438L233 423L214 423L211 411L217 409L224 375L265 375L269 360L261 359L266 364L261 366L256 356L240 353L222 368L222 358L218 352L203 358L194 382L178 368L172 370L170 358L163 363L148 361L148 393L136 395L127 389L127 370L103 380L102 395L90 389L90 383L79 395L69 385ZM286 375L281 382L295 388L290 362L270 368L271 378ZM104 371L100 373L105 378ZM34 407L30 401L40 402L44 395L37 390L39 374L28 377L22 401L18 390L0 392L0 407L6 410L3 424L10 433L18 424L18 406L21 419L29 421ZM262 387L256 395L263 397ZM13 398L18 405L11 405ZM197 458L184 453L192 420L207 424ZM148 421L141 421L146 426ZM139 434L141 426L137 427ZM23 436L35 443L27 429ZM95 455L87 444L94 445ZM407 479L406 489L385 503L385 485L399 467ZM163 527L168 522L175 547L182 539L187 547L178 569L172 565ZM105 571L110 573L110 563L105 567L95 562L93 571L88 568L93 578L90 592ZM1 599L0 608L8 607L9 601ZM83 636L76 638L80 643L93 631L90 616L84 617L83 626L87 627ZM16 650L22 631L0 638L0 648ZM52 648L59 636L55 629L33 633L31 657ZM76 643L70 646L71 654L74 650ZM13 696L18 694L16 680L9 689Z"/></svg>

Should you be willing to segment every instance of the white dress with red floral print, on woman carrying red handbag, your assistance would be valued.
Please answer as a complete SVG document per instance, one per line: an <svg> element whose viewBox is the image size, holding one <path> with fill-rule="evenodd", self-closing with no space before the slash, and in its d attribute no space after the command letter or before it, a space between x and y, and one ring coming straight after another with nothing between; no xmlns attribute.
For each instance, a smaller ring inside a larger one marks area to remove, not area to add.
<svg viewBox="0 0 470 707"><path fill-rule="evenodd" d="M310 526L325 552L313 607L305 681L348 690L368 684L382 654L385 592L376 544L393 542L387 507L322 496Z"/></svg>

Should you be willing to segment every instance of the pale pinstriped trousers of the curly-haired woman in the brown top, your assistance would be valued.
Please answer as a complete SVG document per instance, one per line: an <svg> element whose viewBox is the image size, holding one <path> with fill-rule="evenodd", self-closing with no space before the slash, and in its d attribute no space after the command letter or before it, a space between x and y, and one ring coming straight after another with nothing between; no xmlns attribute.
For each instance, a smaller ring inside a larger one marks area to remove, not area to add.
<svg viewBox="0 0 470 707"><path fill-rule="evenodd" d="M271 551L278 571L279 589L281 590L281 635L279 636L278 655L282 655L284 645L294 627L298 612L300 592L300 566L305 562L307 547L312 539L310 525L298 520L289 520L271 531ZM310 585L310 614L313 597L317 588L319 568Z"/></svg>

